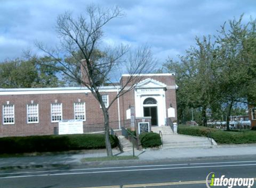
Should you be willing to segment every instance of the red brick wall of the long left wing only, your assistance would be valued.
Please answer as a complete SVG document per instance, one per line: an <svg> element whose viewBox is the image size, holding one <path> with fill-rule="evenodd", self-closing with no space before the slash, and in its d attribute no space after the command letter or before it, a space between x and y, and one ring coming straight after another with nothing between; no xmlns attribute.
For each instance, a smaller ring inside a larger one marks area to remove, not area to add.
<svg viewBox="0 0 256 188"><path fill-rule="evenodd" d="M109 94L109 102L113 100L116 92L103 93ZM0 96L0 137L2 136L25 136L25 135L50 135L54 133L54 127L58 123L51 123L50 104L62 103L63 119L74 119L74 102L85 102L85 125L92 123L103 123L104 117L100 104L91 93L85 94L27 94L27 95L4 95ZM27 123L27 104L38 104L39 123ZM15 124L3 125L2 110L3 105L9 101L15 105ZM118 121L118 103L117 100L109 109L109 121Z"/></svg>

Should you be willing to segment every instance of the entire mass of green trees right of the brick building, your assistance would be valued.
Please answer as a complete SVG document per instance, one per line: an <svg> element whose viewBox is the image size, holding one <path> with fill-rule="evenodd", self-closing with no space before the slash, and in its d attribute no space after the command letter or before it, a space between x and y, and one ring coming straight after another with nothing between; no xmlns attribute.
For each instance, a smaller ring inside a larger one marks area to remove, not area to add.
<svg viewBox="0 0 256 188"><path fill-rule="evenodd" d="M180 61L164 64L162 71L176 73L179 119L193 107L201 111L198 123L224 114L228 125L236 108L256 102L256 21L242 18L224 24L214 40L196 38Z"/></svg>

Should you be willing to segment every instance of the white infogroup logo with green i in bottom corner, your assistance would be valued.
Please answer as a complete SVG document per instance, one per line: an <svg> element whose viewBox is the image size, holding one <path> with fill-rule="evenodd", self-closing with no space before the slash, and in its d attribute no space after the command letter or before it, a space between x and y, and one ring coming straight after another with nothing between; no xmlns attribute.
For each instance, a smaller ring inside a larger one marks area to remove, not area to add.
<svg viewBox="0 0 256 188"><path fill-rule="evenodd" d="M228 188L233 188L234 186L251 188L253 184L254 178L225 178L225 175L217 178L214 172L210 172L206 176L207 188L214 188L216 186L224 186Z"/></svg>

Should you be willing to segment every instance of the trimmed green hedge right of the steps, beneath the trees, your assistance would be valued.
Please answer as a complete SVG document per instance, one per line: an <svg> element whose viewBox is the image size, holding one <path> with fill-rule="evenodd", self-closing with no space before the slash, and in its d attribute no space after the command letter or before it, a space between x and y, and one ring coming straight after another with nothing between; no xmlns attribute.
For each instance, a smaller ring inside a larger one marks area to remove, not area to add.
<svg viewBox="0 0 256 188"><path fill-rule="evenodd" d="M178 133L183 135L207 136L209 130L211 137L217 143L256 143L256 131L222 131L201 126L178 126Z"/></svg>

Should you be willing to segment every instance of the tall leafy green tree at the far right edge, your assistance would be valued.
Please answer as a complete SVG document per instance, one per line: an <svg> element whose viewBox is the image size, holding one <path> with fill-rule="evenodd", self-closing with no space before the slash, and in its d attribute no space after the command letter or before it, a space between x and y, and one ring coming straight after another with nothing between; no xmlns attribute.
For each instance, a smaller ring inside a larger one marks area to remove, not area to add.
<svg viewBox="0 0 256 188"><path fill-rule="evenodd" d="M229 29L226 24L221 27L218 43L218 93L220 106L227 116L227 130L233 106L239 103L255 101L255 21L241 24L239 20L230 20Z"/></svg>

